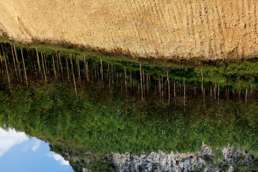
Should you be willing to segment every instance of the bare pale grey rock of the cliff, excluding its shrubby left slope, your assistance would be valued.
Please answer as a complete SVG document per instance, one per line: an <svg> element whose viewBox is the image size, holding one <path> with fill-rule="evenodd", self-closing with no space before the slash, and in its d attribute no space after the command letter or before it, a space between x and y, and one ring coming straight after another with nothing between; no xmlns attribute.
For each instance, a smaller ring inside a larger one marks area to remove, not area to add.
<svg viewBox="0 0 258 172"><path fill-rule="evenodd" d="M188 172L188 171L204 171L204 172L234 172L234 164L240 159L244 159L241 163L249 165L253 155L246 154L245 150L226 147L221 152L221 159L212 161L214 154L212 148L202 147L201 152L197 153L159 153L150 152L134 155L132 153L113 153L113 164L116 172ZM225 167L225 168L221 168Z"/></svg>

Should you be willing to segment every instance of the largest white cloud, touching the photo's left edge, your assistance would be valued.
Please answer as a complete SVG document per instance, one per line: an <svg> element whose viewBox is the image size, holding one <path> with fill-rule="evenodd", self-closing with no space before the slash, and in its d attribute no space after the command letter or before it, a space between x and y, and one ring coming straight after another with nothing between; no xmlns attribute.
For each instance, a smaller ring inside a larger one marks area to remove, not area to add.
<svg viewBox="0 0 258 172"><path fill-rule="evenodd" d="M13 145L28 140L24 132L16 132L14 129L5 131L0 128L0 157L4 155Z"/></svg>

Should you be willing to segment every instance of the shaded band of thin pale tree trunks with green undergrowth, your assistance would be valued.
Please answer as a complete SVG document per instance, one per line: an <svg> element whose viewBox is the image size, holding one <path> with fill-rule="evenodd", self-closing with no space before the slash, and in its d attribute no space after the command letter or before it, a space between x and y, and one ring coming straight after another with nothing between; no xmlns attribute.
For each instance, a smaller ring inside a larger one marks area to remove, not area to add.
<svg viewBox="0 0 258 172"><path fill-rule="evenodd" d="M145 99L159 99L160 103L176 107L183 99L184 105L191 104L196 95L202 95L205 102L217 103L222 99L239 99L245 104L258 97L257 61L246 61L236 67L222 68L212 66L161 68L148 64L130 64L123 60L109 60L86 55L72 55L68 52L48 51L47 54L37 48L22 49L15 44L1 43L0 80L2 87L9 85L33 85L35 82L53 81L71 82L77 97L77 90L82 90L89 83L99 85L99 91L108 87L120 87L125 96L138 95L142 103ZM238 67L237 67L238 66ZM247 68L244 70L243 68ZM220 71L220 72L218 72ZM231 72L230 72L231 71ZM72 86L71 85L71 86ZM202 105L202 106L203 106Z"/></svg>

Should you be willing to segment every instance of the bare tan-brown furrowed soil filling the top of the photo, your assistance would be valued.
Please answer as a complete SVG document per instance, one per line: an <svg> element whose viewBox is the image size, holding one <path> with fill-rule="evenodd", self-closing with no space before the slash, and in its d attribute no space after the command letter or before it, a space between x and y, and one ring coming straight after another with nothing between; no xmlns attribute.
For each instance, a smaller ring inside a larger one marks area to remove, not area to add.
<svg viewBox="0 0 258 172"><path fill-rule="evenodd" d="M258 54L256 0L1 0L0 32L30 43L169 59Z"/></svg>

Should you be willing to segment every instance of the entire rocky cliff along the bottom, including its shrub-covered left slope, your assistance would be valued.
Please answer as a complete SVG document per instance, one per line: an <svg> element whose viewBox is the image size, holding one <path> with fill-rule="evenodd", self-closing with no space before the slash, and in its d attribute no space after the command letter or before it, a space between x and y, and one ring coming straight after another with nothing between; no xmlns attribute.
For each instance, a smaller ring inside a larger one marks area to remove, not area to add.
<svg viewBox="0 0 258 172"><path fill-rule="evenodd" d="M53 149L54 146L51 147L52 150L56 150L56 148ZM73 169L78 172L97 172L93 168L97 166L105 166L102 171L104 169L104 171L113 172L258 171L258 162L252 153L231 146L212 150L209 146L203 145L200 152L185 154L173 152L169 154L162 151L140 155L112 153L112 156L106 155L101 161L96 161L99 156L96 153L94 158L87 158L91 154L89 151L81 153L77 150L58 149L61 150L60 154L69 160Z"/></svg>

